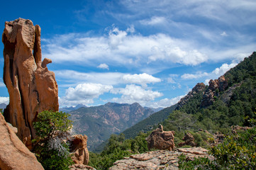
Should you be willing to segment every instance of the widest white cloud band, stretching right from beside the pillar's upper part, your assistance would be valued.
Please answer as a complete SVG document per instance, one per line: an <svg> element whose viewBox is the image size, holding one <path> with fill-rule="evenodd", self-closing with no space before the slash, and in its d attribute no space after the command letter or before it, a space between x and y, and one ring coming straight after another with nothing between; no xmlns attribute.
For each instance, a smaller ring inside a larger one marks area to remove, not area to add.
<svg viewBox="0 0 256 170"><path fill-rule="evenodd" d="M167 34L134 34L134 28L119 30L113 27L108 35L89 34L58 35L45 42L45 57L53 62L121 64L141 67L149 62L164 61L196 65L208 57L193 42L170 37Z"/></svg>

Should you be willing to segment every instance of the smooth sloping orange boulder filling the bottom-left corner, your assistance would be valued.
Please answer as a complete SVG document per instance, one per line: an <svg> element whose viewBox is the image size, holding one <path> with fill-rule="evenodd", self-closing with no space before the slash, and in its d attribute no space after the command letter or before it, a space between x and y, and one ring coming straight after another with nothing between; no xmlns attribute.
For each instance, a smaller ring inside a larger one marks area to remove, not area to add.
<svg viewBox="0 0 256 170"><path fill-rule="evenodd" d="M43 170L35 155L23 145L0 113L0 169Z"/></svg>

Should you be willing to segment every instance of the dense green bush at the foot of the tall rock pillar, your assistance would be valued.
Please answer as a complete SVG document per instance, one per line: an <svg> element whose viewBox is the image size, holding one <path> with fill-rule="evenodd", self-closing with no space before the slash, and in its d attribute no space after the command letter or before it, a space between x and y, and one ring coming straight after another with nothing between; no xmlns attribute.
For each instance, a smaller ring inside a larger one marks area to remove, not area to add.
<svg viewBox="0 0 256 170"><path fill-rule="evenodd" d="M44 169L65 170L73 164L69 154L67 140L72 121L68 114L62 112L43 111L33 123L38 138L35 139L34 151Z"/></svg>

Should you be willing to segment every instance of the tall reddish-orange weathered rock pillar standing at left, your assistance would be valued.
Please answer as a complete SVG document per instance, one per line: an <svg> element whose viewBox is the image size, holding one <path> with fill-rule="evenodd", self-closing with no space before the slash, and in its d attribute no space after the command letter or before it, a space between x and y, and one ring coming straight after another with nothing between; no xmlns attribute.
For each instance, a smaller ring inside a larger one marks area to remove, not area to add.
<svg viewBox="0 0 256 170"><path fill-rule="evenodd" d="M40 27L18 18L5 23L4 84L10 103L4 110L6 121L18 128L18 137L31 148L35 138L33 121L38 113L58 111L58 90L55 74L41 61Z"/></svg>

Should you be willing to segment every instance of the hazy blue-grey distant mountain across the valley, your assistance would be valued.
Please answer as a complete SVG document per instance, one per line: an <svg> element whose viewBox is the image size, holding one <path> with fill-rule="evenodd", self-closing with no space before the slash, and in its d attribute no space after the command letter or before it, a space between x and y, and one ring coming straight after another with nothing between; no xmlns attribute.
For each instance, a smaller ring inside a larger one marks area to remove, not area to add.
<svg viewBox="0 0 256 170"><path fill-rule="evenodd" d="M70 120L74 122L74 132L88 136L87 144L90 150L94 150L111 134L118 134L130 128L152 113L154 111L151 108L143 108L139 103L106 103L69 112Z"/></svg>

